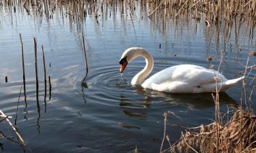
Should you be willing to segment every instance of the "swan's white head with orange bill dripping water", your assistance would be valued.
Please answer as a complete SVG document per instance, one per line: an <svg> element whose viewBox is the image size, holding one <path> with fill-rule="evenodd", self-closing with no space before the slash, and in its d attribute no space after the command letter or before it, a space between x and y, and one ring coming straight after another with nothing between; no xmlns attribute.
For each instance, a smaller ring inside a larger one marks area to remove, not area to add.
<svg viewBox="0 0 256 153"><path fill-rule="evenodd" d="M124 51L119 61L120 73L122 73L124 69L126 69L126 65L128 65L130 61L141 55L142 52L145 52L143 48L128 48L126 51Z"/></svg>

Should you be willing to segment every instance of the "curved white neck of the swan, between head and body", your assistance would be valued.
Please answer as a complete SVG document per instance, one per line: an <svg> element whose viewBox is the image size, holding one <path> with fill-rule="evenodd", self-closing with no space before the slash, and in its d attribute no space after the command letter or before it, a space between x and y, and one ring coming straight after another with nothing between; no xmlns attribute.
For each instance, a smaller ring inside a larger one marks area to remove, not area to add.
<svg viewBox="0 0 256 153"><path fill-rule="evenodd" d="M132 78L131 84L141 85L144 82L145 78L147 78L147 76L150 75L150 73L152 72L154 67L154 60L152 56L145 50L139 50L139 52L136 53L137 54L134 56L134 58L142 56L143 58L145 58L146 65L143 70L141 70L139 73L137 73L137 75L134 76L134 78Z"/></svg>

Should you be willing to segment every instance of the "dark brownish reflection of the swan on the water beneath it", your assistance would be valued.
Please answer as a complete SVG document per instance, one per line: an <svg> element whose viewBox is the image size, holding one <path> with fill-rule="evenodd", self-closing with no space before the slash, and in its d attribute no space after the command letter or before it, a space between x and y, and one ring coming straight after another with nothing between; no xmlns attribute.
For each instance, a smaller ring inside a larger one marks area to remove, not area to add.
<svg viewBox="0 0 256 153"><path fill-rule="evenodd" d="M168 108L171 110L173 105L186 106L188 109L206 109L209 107L214 107L215 105L214 98L212 97L215 96L215 93L204 92L197 94L173 94L169 92L144 89L140 86L133 86L132 89L143 97L134 101L126 97L124 93L120 93L119 105L121 106L124 114L140 119L146 119L147 114L145 113L144 109L149 109L156 103L158 103L158 105L161 105L160 103L169 103L169 106L165 108L165 110ZM231 108L238 108L236 101L229 97L226 92L219 93L219 101L221 105L229 105ZM165 110L163 109L162 111Z"/></svg>

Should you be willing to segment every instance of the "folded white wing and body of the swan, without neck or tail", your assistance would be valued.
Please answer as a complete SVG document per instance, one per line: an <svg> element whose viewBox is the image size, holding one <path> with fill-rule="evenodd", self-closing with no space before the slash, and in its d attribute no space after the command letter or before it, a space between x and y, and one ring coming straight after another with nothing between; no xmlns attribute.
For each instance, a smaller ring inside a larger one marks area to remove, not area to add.
<svg viewBox="0 0 256 153"><path fill-rule="evenodd" d="M205 69L197 65L177 65L163 69L152 77L145 80L142 84L144 88L172 88L186 89L197 88L204 84L214 83L214 77L218 75L219 82L225 82L227 79L221 73L214 72L211 69ZM157 89L158 90L158 89ZM163 90L163 89L162 89Z"/></svg>

